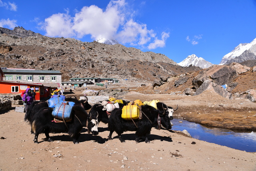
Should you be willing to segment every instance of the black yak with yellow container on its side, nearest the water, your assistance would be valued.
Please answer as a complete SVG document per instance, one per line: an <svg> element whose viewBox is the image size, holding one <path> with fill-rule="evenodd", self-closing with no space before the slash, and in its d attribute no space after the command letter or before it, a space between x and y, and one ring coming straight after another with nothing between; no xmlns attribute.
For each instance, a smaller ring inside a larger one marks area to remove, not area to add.
<svg viewBox="0 0 256 171"><path fill-rule="evenodd" d="M139 143L140 139L144 139L146 143L150 143L147 135L150 134L153 125L159 125L161 127L162 124L168 130L172 128L168 115L168 106L164 103L158 102L157 109L150 105L142 105L141 111L142 119L134 119L134 122L132 122L122 119L122 109L114 109L108 122L108 129L110 131L108 139L112 139L112 133L115 131L120 141L125 142L122 138L122 133L124 131L136 131L136 143Z"/></svg>

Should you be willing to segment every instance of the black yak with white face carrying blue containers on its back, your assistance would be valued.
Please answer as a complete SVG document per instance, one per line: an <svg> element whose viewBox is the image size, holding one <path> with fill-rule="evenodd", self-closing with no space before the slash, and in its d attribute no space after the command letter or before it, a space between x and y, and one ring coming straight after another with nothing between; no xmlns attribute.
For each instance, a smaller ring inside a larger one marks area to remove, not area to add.
<svg viewBox="0 0 256 171"><path fill-rule="evenodd" d="M66 98L65 100L75 102L72 107L71 121L55 123L52 116L52 108L44 107L39 109L32 117L32 131L35 133L34 143L38 143L38 135L40 133L44 133L46 140L51 142L50 132L67 132L72 137L73 143L78 144L80 131L83 127L87 127L93 135L98 135L97 116L89 116L86 112L91 108L91 105L87 101L87 103L81 103L81 101L74 98Z"/></svg>

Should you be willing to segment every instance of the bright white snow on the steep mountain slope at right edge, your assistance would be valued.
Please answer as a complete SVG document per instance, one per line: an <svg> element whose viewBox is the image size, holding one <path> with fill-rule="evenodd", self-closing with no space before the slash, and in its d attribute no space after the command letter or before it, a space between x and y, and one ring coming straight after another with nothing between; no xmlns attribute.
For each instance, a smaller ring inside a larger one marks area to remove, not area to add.
<svg viewBox="0 0 256 171"><path fill-rule="evenodd" d="M228 64L230 60L242 55L242 53L244 53L244 51L252 48L252 46L254 44L256 44L256 38L254 40L252 40L252 42L250 42L250 43L239 44L238 46L236 46L236 48L234 48L234 50L232 50L230 53L226 54L222 58L219 65Z"/></svg>

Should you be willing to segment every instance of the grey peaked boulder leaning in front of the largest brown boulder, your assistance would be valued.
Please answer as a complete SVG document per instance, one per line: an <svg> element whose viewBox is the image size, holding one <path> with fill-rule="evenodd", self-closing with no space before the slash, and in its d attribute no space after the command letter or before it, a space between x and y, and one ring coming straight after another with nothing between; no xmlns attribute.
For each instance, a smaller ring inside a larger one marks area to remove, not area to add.
<svg viewBox="0 0 256 171"><path fill-rule="evenodd" d="M194 95L199 95L207 89L215 91L217 94L221 95L222 97L231 99L232 93L226 91L221 85L215 84L210 80L204 81L203 84L196 90Z"/></svg>

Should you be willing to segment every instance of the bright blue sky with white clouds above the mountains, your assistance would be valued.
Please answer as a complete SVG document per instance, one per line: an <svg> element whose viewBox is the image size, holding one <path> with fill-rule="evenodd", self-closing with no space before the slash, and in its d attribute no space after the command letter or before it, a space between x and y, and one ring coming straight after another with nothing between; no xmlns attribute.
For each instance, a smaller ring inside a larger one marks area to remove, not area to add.
<svg viewBox="0 0 256 171"><path fill-rule="evenodd" d="M0 27L83 42L116 39L175 62L212 64L256 38L256 0L0 0Z"/></svg>

